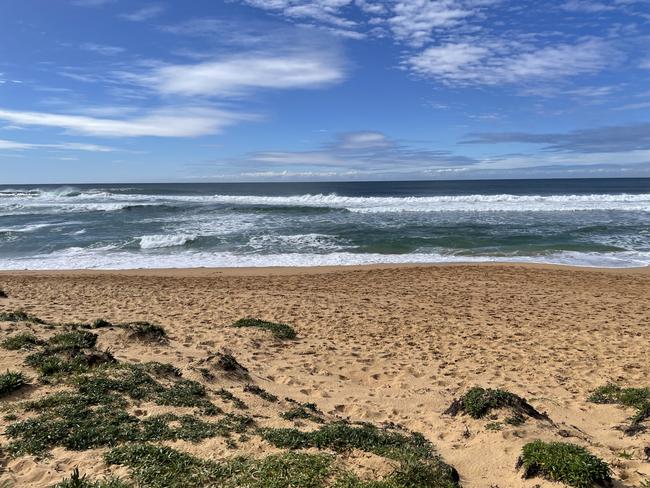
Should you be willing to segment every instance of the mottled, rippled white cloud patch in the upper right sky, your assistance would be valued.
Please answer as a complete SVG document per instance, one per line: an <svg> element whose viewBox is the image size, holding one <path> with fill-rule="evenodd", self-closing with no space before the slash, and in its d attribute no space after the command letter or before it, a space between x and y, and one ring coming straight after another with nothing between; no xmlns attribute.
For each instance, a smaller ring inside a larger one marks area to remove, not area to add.
<svg viewBox="0 0 650 488"><path fill-rule="evenodd" d="M602 40L535 48L503 42L449 43L411 56L406 65L449 85L495 85L595 73L611 62L612 53Z"/></svg>

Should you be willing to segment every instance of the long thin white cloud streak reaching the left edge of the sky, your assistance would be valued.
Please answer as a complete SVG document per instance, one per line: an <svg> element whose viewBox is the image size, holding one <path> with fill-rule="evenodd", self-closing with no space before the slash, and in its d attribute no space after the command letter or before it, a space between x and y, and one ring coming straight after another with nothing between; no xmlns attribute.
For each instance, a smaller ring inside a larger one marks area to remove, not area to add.
<svg viewBox="0 0 650 488"><path fill-rule="evenodd" d="M126 119L0 109L0 119L13 124L58 127L99 137L196 137L218 133L226 126L251 118L250 115L198 107L158 109Z"/></svg>

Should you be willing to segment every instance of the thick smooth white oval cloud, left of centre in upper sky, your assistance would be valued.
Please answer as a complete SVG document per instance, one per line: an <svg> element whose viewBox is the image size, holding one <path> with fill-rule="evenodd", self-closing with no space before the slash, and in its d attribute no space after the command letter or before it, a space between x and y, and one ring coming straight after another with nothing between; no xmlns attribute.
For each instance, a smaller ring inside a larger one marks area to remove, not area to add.
<svg viewBox="0 0 650 488"><path fill-rule="evenodd" d="M251 89L313 88L339 82L341 63L317 53L239 54L198 64L169 65L145 74L124 75L163 94L239 95Z"/></svg>

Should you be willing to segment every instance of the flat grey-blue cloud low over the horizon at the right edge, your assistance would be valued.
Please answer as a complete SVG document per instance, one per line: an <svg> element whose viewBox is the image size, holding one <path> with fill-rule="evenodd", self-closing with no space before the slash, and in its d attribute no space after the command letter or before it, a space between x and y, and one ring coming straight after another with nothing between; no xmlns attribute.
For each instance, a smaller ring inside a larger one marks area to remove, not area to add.
<svg viewBox="0 0 650 488"><path fill-rule="evenodd" d="M650 149L650 123L535 134L495 132L470 134L465 144L539 144L546 151L569 153L619 153Z"/></svg>

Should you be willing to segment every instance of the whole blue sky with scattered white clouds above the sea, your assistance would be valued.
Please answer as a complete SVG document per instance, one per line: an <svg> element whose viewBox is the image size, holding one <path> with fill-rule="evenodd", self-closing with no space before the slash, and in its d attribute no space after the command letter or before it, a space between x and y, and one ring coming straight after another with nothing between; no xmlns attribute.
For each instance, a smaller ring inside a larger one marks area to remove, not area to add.
<svg viewBox="0 0 650 488"><path fill-rule="evenodd" d="M0 0L0 184L650 176L650 0Z"/></svg>

